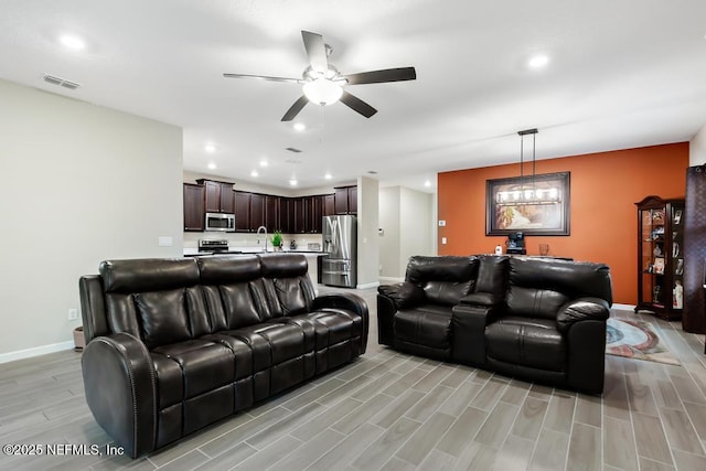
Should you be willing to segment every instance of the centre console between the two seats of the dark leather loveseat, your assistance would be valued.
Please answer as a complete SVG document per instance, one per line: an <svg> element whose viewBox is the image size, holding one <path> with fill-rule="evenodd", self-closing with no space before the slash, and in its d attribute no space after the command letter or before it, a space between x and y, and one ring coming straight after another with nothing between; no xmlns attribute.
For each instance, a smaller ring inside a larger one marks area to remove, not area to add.
<svg viewBox="0 0 706 471"><path fill-rule="evenodd" d="M496 309L484 306L457 304L451 314L451 356L460 363L485 364L485 325Z"/></svg>

